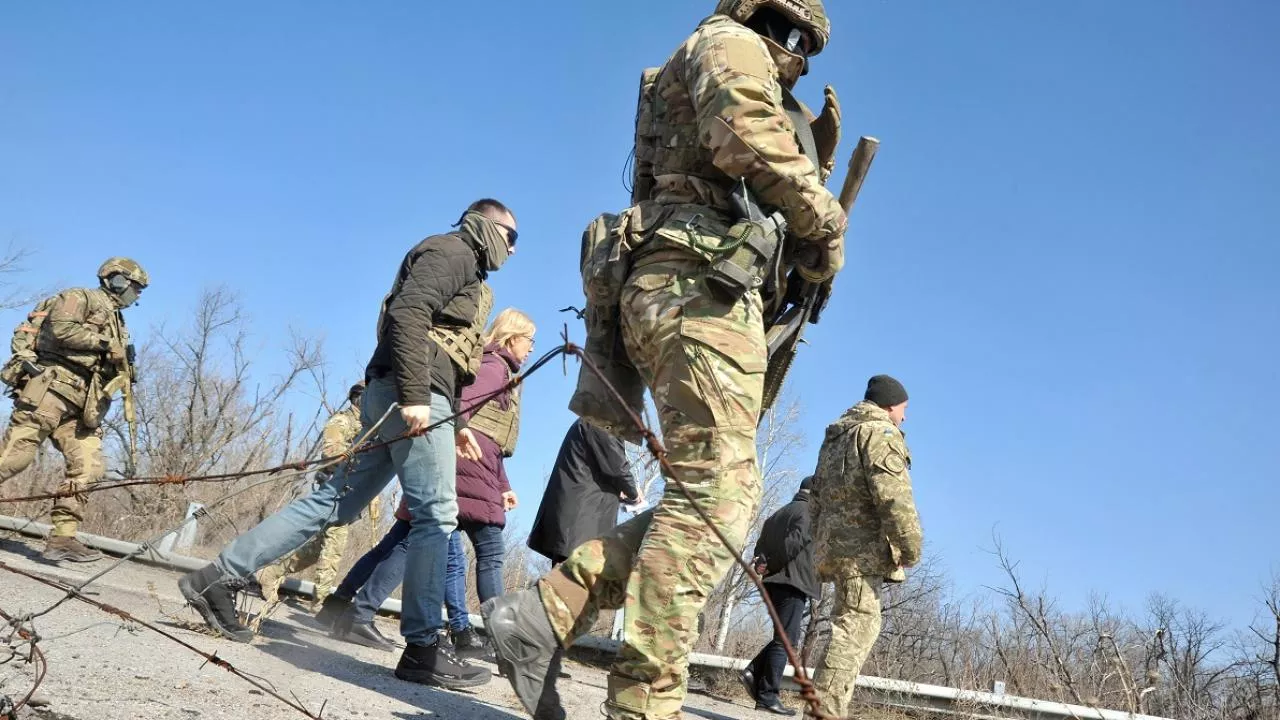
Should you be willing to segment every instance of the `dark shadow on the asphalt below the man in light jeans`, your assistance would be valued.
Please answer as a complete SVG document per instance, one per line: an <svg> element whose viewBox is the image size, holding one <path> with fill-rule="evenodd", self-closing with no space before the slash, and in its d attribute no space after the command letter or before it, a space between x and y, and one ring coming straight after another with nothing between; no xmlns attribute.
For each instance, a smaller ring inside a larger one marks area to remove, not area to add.
<svg viewBox="0 0 1280 720"><path fill-rule="evenodd" d="M280 619L283 620L283 619ZM375 650L360 646L349 646L351 653L339 652L328 647L330 641L324 633L292 623L280 620L268 620L262 624L261 633L253 646L262 652L276 657L300 670L325 675L339 683L347 683L367 691L381 693L419 710L434 714L439 717L468 717L474 720L520 720L522 715L515 715L506 708L494 706L479 697L467 694L466 691L445 691L417 683L407 683L397 678L393 671L399 660L399 650L381 653L385 664L376 664L357 657L355 653L378 653ZM268 642L262 642L262 641ZM503 683L506 680L494 678L490 682ZM342 691L337 691L333 697L302 698L308 706L325 700L337 700ZM312 707L315 710L316 707ZM355 708L351 708L355 710ZM394 712L401 717L412 715Z"/></svg>

